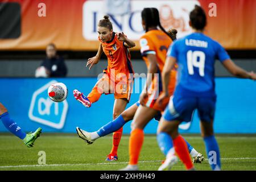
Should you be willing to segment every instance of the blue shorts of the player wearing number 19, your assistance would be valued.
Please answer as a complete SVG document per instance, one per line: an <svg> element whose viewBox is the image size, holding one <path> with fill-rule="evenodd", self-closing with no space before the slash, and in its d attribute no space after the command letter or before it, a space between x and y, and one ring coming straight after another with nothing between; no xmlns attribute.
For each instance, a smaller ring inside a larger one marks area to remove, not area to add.
<svg viewBox="0 0 256 182"><path fill-rule="evenodd" d="M163 117L167 121L179 120L189 122L193 111L198 110L201 121L210 122L214 118L216 97L179 97L170 98Z"/></svg>

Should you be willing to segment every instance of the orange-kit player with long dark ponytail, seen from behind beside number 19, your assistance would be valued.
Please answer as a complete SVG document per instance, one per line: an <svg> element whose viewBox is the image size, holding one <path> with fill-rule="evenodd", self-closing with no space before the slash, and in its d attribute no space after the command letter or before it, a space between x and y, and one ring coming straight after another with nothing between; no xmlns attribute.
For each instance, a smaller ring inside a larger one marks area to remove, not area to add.
<svg viewBox="0 0 256 182"><path fill-rule="evenodd" d="M164 106L168 104L168 98L164 100L163 105L158 104L157 99L162 92L161 73L163 71L166 53L168 47L172 43L170 35L164 30L160 24L159 12L155 8L145 8L142 11L142 26L146 33L141 37L141 53L147 65L147 82L139 103L141 104L131 123L131 136L129 142L129 165L122 170L138 170L138 158L141 152L144 133L143 129L147 123L154 118L159 112L164 110ZM159 27L161 30L159 30ZM172 83L168 85L170 95L174 93L176 81L176 68L170 73Z"/></svg>

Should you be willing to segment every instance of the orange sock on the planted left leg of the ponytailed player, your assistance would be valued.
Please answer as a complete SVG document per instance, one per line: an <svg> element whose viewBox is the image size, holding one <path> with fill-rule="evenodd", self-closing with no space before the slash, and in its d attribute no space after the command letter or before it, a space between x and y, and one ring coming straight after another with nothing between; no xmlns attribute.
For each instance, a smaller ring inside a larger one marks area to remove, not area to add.
<svg viewBox="0 0 256 182"><path fill-rule="evenodd" d="M138 164L139 153L141 152L141 147L144 140L144 133L142 129L135 129L131 131L131 137L129 141L129 164Z"/></svg>

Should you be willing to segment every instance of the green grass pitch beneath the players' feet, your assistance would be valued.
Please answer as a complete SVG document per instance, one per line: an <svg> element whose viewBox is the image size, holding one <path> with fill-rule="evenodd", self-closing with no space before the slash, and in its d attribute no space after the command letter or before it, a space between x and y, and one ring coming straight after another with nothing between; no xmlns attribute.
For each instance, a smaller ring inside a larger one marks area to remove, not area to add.
<svg viewBox="0 0 256 182"><path fill-rule="evenodd" d="M184 135L205 157L203 139L199 135ZM256 170L256 135L217 135L222 170ZM129 136L123 135L118 149L118 161L106 162L112 147L112 135L86 145L76 134L44 134L27 148L22 140L10 134L0 135L0 171L3 170L89 170L112 171L126 167L129 160ZM38 164L39 151L46 152L46 165ZM139 169L155 171L164 159L155 135L145 135L139 158ZM208 161L195 164L197 170L210 170ZM179 161L172 170L185 168Z"/></svg>

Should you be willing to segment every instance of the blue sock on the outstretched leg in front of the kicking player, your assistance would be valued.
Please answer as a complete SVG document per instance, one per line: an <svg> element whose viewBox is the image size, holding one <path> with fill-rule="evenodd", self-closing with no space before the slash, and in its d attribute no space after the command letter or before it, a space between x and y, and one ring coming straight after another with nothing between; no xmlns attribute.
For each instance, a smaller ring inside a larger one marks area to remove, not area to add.
<svg viewBox="0 0 256 182"><path fill-rule="evenodd" d="M120 129L123 125L125 125L126 121L123 119L122 115L120 114L116 119L106 123L106 125L102 126L97 132L100 137L104 137L114 131Z"/></svg>

